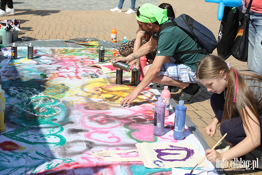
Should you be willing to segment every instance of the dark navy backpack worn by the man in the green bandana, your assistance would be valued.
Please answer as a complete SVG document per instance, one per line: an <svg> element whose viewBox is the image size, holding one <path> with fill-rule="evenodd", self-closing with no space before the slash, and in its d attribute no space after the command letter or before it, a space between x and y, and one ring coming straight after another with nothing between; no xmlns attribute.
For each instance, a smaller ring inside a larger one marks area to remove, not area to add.
<svg viewBox="0 0 262 175"><path fill-rule="evenodd" d="M175 54L193 54L199 52L213 53L213 50L217 47L217 40L212 31L186 14L182 14L177 18L169 17L169 19L171 19L172 22L162 24L158 32L152 35L155 40L158 40L158 36L162 30L175 25L184 30L188 35L192 36L195 42L203 48L200 50L185 51Z"/></svg>

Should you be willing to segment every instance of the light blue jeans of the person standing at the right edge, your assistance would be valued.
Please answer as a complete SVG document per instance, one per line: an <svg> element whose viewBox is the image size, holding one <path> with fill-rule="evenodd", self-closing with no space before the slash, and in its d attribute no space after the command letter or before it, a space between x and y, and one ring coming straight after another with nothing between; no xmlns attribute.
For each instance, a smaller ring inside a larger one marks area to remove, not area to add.
<svg viewBox="0 0 262 175"><path fill-rule="evenodd" d="M262 75L262 14L250 10L249 13L249 36L248 36L248 59L249 70Z"/></svg>

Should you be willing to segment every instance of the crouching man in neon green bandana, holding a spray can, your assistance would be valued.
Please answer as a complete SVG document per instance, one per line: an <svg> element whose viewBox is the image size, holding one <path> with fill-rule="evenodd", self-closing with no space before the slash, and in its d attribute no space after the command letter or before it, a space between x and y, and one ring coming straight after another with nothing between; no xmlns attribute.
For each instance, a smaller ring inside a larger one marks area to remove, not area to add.
<svg viewBox="0 0 262 175"><path fill-rule="evenodd" d="M149 3L137 9L137 23L146 33L157 33L160 25L166 22L171 22L167 17L167 9L162 9ZM150 53L155 46L157 46L157 54L153 64L144 67L143 72L145 76L143 80L121 101L121 104L125 105L127 103L129 105L151 82L182 88L182 95L175 100L177 102L184 100L185 104L191 103L202 90L196 84L199 81L196 78L195 71L198 61L206 53L174 54L201 49L201 46L178 26L167 27L160 32L158 40L151 37L136 52L127 57L119 58L116 62L130 62L131 66L138 64L138 58Z"/></svg>

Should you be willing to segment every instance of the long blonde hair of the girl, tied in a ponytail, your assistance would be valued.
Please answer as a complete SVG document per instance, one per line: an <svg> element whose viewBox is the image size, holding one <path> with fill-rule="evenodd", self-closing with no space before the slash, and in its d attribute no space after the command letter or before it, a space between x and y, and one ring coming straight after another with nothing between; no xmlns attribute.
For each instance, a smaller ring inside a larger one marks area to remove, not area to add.
<svg viewBox="0 0 262 175"><path fill-rule="evenodd" d="M260 125L261 123L259 119L257 106L261 106L261 104L256 102L254 94L247 86L245 80L248 79L248 80L255 81L257 87L259 87L258 82L262 82L262 76L250 70L236 70L232 66L229 68L227 63L221 57L215 55L207 55L202 60L200 60L197 65L196 74L197 74L197 78L200 80L213 79L222 76L222 74L219 74L220 71L224 71L228 77L222 122L240 116L240 118L243 121L243 125L247 127L247 124L249 124L248 120L245 117L243 117L244 111L247 114L247 117L250 117L250 114L247 113L247 110L245 108L247 106L249 107L251 112L256 116L256 118L259 120L259 125ZM236 82L236 74L238 76L238 82ZM238 83L237 91L236 91L236 83ZM236 92L236 102L234 102L235 92ZM260 96L261 96L261 92L260 92ZM241 109L244 109L244 111ZM247 129L248 132L250 133L248 127Z"/></svg>

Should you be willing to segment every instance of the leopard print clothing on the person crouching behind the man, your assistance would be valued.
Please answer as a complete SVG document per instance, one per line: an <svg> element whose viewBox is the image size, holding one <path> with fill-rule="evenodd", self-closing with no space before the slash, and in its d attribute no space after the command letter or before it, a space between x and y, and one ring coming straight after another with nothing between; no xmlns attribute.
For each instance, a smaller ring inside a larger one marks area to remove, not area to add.
<svg viewBox="0 0 262 175"><path fill-rule="evenodd" d="M127 41L127 42L121 44L121 46L118 49L119 54L122 55L123 57L127 57L128 55L132 54L133 51L134 51L135 40L136 39L132 39L130 41ZM146 41L145 38L143 38L143 40L141 42L141 46L144 45L145 43L147 43L147 41ZM157 47L155 47L155 49L152 52L150 52L146 55L146 59L147 60L154 60L156 52L157 52Z"/></svg>

